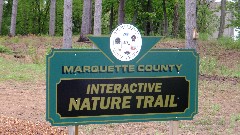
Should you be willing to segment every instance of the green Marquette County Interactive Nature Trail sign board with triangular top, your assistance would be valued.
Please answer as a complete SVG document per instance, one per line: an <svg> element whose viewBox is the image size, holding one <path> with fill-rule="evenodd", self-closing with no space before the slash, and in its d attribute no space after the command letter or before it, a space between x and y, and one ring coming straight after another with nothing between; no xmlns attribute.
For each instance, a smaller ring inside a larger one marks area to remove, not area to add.
<svg viewBox="0 0 240 135"><path fill-rule="evenodd" d="M47 56L46 119L52 125L191 120L198 111L199 56L192 49L152 49L142 37L129 61L99 49L53 49Z"/></svg>

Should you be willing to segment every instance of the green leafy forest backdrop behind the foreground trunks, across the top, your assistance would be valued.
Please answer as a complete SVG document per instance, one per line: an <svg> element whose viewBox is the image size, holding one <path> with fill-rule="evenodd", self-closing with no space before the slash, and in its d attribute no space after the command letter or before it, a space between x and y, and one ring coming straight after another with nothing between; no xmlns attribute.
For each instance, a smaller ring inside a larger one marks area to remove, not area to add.
<svg viewBox="0 0 240 135"><path fill-rule="evenodd" d="M85 34L93 33L94 5L98 1L72 0L72 32L74 35L80 34L81 27L85 27L86 19L83 19L83 12L86 9L88 11L85 15L87 14L90 18L90 23L88 23L90 28ZM55 4L55 7L51 4ZM103 35L109 35L112 29L120 23L130 23L135 25L142 35L185 37L184 0L102 0L100 4L102 6L101 34ZM223 16L226 12L231 12L233 15L233 20L229 20L231 23L225 25L224 28L240 28L240 0L227 1L217 8L212 8L214 4L214 0L197 1L197 30L202 38L209 38L213 32L219 30L222 17L217 17L215 13L220 10L225 10ZM86 5L90 9L86 8ZM11 34L11 23L14 24L11 22L14 6L17 7L16 26L13 26L16 30ZM50 27L53 27L50 25L50 12L55 12L53 14L54 33L51 35L62 36L63 10L64 0L0 0L1 35L49 35Z"/></svg>

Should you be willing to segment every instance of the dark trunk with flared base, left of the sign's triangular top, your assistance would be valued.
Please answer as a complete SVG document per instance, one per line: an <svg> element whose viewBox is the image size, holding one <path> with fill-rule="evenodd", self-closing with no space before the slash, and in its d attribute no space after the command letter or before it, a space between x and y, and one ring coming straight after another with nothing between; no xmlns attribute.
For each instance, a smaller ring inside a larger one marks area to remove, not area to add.
<svg viewBox="0 0 240 135"><path fill-rule="evenodd" d="M84 0L83 2L83 14L82 14L82 25L80 38L78 42L89 41L87 35L90 34L91 25L92 25L92 0Z"/></svg>

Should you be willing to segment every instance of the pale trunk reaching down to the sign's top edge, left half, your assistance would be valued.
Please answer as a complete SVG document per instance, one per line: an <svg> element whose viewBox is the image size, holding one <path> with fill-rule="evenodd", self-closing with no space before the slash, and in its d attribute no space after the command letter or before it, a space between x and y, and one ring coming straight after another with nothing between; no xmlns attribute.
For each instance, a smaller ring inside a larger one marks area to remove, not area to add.
<svg viewBox="0 0 240 135"><path fill-rule="evenodd" d="M72 0L64 0L63 49L72 48Z"/></svg>

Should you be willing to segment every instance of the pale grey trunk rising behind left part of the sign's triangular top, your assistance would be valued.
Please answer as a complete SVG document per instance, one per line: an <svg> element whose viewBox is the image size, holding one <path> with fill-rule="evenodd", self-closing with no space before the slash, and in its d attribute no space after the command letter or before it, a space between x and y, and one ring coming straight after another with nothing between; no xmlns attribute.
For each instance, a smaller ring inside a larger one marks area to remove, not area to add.
<svg viewBox="0 0 240 135"><path fill-rule="evenodd" d="M102 31L102 0L95 0L95 10L94 10L94 31L93 35L99 36Z"/></svg>

